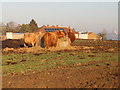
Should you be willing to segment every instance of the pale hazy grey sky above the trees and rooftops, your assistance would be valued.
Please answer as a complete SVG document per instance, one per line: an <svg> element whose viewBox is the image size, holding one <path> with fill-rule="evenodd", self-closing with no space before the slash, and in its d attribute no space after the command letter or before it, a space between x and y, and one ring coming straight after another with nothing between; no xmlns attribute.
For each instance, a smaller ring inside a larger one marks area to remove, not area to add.
<svg viewBox="0 0 120 90"><path fill-rule="evenodd" d="M19 24L35 19L41 25L71 26L77 31L118 30L117 2L5 2L2 21Z"/></svg>

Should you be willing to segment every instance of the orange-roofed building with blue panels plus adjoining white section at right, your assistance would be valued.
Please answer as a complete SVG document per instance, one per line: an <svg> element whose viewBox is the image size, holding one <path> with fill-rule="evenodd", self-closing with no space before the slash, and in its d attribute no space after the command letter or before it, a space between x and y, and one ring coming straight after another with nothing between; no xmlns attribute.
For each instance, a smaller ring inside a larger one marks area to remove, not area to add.
<svg viewBox="0 0 120 90"><path fill-rule="evenodd" d="M69 30L72 30L70 27L59 27L58 25L56 26L50 26L50 25L43 25L39 30L42 33L45 32L54 32L56 30L62 30L63 32L68 33ZM72 30L72 32L75 34L77 39L101 39L101 37L93 32L76 32L75 30Z"/></svg>

